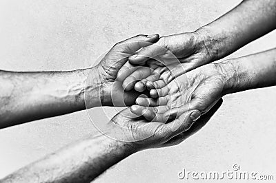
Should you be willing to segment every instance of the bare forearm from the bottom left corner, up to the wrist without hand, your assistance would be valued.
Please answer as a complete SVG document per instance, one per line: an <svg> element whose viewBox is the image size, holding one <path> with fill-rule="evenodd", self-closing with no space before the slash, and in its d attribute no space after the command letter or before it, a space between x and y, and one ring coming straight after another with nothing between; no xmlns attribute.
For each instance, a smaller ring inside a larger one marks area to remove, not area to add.
<svg viewBox="0 0 276 183"><path fill-rule="evenodd" d="M90 182L132 153L130 144L100 134L52 153L0 182Z"/></svg>

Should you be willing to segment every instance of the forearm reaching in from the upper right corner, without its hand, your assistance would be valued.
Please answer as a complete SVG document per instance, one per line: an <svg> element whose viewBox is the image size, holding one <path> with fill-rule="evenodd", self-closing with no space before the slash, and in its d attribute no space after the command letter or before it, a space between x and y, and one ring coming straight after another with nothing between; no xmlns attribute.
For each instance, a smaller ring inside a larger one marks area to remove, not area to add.
<svg viewBox="0 0 276 183"><path fill-rule="evenodd" d="M275 21L275 0L245 0L196 32L204 35L204 45L216 61L274 30Z"/></svg>

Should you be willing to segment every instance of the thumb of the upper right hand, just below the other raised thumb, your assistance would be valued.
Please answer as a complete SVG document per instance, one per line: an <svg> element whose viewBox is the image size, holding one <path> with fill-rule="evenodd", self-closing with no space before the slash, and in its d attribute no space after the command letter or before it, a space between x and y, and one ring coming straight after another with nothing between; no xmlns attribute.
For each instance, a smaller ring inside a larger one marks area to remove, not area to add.
<svg viewBox="0 0 276 183"><path fill-rule="evenodd" d="M148 60L148 58L155 58L160 54L165 54L168 50L161 45L161 42L157 42L154 45L149 45L147 47L143 47L138 54L130 56L129 61L132 64L144 63Z"/></svg>

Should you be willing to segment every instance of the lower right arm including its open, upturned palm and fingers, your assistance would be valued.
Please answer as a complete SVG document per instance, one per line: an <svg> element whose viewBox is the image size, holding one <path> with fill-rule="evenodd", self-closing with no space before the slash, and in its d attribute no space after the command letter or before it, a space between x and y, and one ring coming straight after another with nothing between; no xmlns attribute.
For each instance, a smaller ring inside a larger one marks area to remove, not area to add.
<svg viewBox="0 0 276 183"><path fill-rule="evenodd" d="M137 98L133 113L148 120L169 118L190 109L205 114L226 94L276 85L276 49L203 65L168 85L152 85L151 98ZM159 104L166 110L155 109Z"/></svg>

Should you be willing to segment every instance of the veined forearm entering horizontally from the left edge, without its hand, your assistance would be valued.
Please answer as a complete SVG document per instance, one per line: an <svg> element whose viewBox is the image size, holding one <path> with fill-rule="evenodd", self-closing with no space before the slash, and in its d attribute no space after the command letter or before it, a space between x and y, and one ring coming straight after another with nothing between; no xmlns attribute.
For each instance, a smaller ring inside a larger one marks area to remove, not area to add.
<svg viewBox="0 0 276 183"><path fill-rule="evenodd" d="M0 128L86 109L86 90L97 106L99 83L86 83L89 72L0 71Z"/></svg>

